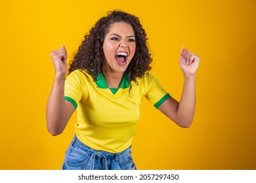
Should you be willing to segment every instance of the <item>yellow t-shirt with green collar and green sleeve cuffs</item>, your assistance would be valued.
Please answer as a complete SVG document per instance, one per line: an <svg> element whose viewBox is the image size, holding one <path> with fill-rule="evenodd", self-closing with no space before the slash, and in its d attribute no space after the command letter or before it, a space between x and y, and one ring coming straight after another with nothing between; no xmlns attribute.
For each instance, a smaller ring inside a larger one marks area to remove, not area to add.
<svg viewBox="0 0 256 183"><path fill-rule="evenodd" d="M75 70L65 81L65 99L77 108L77 138L95 150L117 153L131 146L140 116L140 101L146 97L156 108L171 97L150 73L139 85L123 76L118 89L108 88L103 75L96 82L85 71Z"/></svg>

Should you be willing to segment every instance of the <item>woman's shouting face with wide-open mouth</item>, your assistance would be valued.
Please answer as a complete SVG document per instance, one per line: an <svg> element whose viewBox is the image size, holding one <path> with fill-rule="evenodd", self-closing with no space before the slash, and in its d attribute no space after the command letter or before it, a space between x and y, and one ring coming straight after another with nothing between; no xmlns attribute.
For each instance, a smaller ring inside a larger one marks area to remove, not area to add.
<svg viewBox="0 0 256 183"><path fill-rule="evenodd" d="M135 54L135 33L125 22L110 25L103 42L104 71L123 73Z"/></svg>

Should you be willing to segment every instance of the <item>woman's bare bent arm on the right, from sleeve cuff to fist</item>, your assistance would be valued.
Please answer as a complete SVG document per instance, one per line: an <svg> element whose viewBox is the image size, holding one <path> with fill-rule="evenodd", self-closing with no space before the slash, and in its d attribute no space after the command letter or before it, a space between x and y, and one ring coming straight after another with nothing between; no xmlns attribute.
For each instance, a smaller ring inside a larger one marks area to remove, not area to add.
<svg viewBox="0 0 256 183"><path fill-rule="evenodd" d="M180 102L172 97L163 102L158 109L181 127L190 127L196 105L196 71L200 58L182 48L179 60L184 75L184 86Z"/></svg>

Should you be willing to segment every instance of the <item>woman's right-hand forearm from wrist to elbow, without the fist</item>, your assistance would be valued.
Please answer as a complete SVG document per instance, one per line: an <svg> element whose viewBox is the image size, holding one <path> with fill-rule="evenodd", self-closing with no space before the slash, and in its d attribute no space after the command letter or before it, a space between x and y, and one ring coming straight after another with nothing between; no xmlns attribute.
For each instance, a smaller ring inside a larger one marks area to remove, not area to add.
<svg viewBox="0 0 256 183"><path fill-rule="evenodd" d="M182 127L190 127L196 105L196 74L184 75L184 86L177 108L177 119Z"/></svg>

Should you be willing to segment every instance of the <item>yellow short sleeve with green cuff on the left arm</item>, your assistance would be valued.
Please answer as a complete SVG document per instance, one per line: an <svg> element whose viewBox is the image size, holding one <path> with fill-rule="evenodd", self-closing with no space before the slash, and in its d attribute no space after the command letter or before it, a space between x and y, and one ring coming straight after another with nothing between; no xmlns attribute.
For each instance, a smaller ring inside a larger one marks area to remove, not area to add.
<svg viewBox="0 0 256 183"><path fill-rule="evenodd" d="M80 71L73 71L67 76L65 80L64 96L66 101L70 101L77 108L82 95L81 83L83 77L81 77Z"/></svg>

